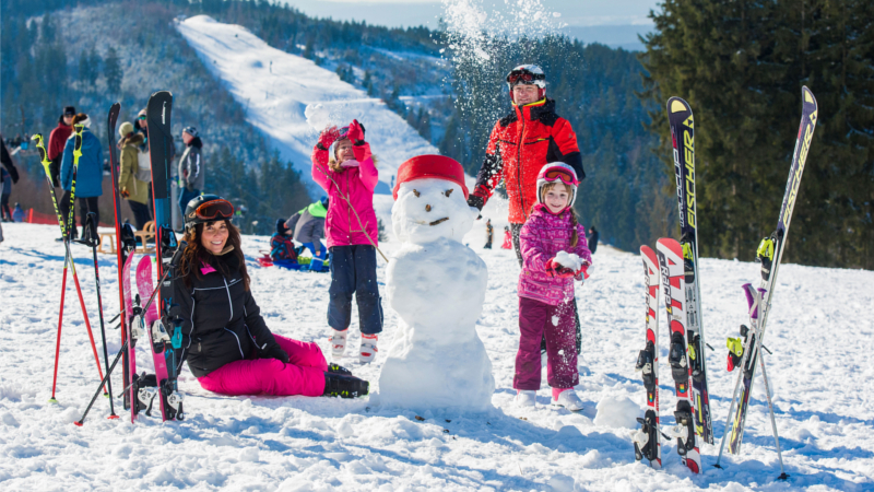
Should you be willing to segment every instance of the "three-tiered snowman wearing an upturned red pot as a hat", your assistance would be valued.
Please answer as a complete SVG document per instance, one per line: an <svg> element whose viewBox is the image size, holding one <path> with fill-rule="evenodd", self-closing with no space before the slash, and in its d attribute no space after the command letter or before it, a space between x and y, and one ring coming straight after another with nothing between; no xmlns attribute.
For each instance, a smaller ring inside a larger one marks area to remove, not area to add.
<svg viewBox="0 0 874 492"><path fill-rule="evenodd" d="M389 262L388 302L402 321L379 376L381 405L491 408L492 362L476 335L488 271L461 238L473 220L464 169L441 155L398 168L391 221L403 243Z"/></svg>

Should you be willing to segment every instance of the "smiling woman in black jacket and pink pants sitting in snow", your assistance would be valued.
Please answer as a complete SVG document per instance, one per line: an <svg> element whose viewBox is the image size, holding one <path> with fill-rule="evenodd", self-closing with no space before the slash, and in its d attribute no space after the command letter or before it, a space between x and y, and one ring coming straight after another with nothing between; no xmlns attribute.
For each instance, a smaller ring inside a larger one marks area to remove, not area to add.
<svg viewBox="0 0 874 492"><path fill-rule="evenodd" d="M353 398L368 383L328 365L316 343L273 335L249 290L234 206L201 195L185 211L185 241L174 303L182 317L182 354L200 385L222 395Z"/></svg>

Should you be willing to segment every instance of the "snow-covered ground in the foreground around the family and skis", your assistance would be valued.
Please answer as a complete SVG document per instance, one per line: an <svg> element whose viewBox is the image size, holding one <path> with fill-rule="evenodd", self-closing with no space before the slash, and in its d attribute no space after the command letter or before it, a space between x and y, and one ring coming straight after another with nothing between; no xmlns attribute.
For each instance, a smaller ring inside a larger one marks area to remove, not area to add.
<svg viewBox="0 0 874 492"><path fill-rule="evenodd" d="M584 327L582 377L576 388L586 403L580 413L551 408L547 388L541 390L535 409L511 405L518 266L511 251L480 249L483 236L474 231L466 239L489 270L477 323L497 386L495 408L487 413L435 410L420 414L420 421L411 411L379 408L368 398L225 398L201 389L186 370L180 383L187 394L184 422L165 424L145 417L137 424L110 421L108 403L101 397L85 426L78 427L72 422L94 391L97 374L69 285L59 403L47 402L63 263L62 246L52 241L57 230L31 224L3 224L3 230L0 490L874 490L874 410L863 391L872 389L874 378L869 356L874 272L795 265L780 269L766 343L775 352L767 363L791 475L783 483L775 481L777 455L758 379L744 455L725 456L724 470L711 466L713 446L701 448L700 476L681 465L670 444L663 447L663 470L635 462L633 415L607 401L627 397L642 408L645 400L634 372L643 338L642 266L631 254L602 246L593 277L578 290ZM256 251L267 244L267 237L244 239L255 297L268 325L327 349L329 277L258 267ZM387 243L383 249L390 255L397 246ZM91 251L74 246L73 254L99 347ZM101 256L99 266L104 306L113 316L118 311L115 257ZM717 348L709 364L721 436L734 383L733 374L724 371L724 339L746 320L740 286L755 281L758 268L704 259L701 269L704 321L708 341ZM385 279L381 260L379 276ZM388 348L398 317L387 303L383 306L380 347ZM353 325L351 342L356 347L357 324ZM118 350L118 331L107 336L110 350ZM140 350L138 359L151 358ZM377 382L383 360L368 366L352 358L340 362ZM661 386L662 413L663 422L671 423L674 398L666 379ZM118 393L120 377L114 383ZM379 390L376 384L371 388ZM602 400L602 414L595 419ZM594 423L605 417L619 426Z"/></svg>

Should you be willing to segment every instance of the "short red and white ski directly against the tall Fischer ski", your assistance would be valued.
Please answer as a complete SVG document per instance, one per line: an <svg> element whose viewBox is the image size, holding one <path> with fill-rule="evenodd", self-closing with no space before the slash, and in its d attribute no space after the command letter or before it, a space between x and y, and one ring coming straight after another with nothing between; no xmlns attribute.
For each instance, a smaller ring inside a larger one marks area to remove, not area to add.
<svg viewBox="0 0 874 492"><path fill-rule="evenodd" d="M701 470L701 455L695 440L695 400L689 387L692 366L689 364L689 348L686 343L686 289L685 289L685 261L683 247L674 239L661 238L656 244L659 257L662 295L668 309L668 323L671 329L671 345L668 352L668 362L671 365L671 376L676 388L676 411L674 419L676 425L665 429L666 435L675 437L676 452L683 458L683 465L694 473Z"/></svg>

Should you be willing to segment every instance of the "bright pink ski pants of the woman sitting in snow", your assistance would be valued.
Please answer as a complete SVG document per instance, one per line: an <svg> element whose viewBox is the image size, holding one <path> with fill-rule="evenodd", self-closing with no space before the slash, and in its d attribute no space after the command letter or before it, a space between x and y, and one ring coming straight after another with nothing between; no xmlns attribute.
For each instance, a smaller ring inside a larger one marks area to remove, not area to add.
<svg viewBox="0 0 874 492"><path fill-rule="evenodd" d="M288 363L276 359L234 361L199 377L203 389L227 396L321 396L328 363L316 343L307 343L273 335Z"/></svg>

